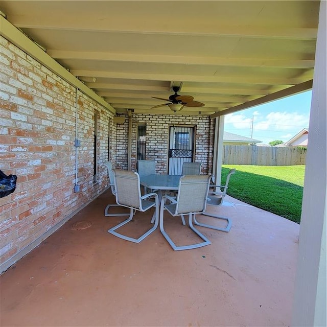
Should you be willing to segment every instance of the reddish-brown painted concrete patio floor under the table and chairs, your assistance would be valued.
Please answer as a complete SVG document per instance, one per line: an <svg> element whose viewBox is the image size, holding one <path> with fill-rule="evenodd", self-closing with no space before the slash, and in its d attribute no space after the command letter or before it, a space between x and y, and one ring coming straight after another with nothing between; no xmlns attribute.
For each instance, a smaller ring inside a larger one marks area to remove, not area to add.
<svg viewBox="0 0 327 327"><path fill-rule="evenodd" d="M110 191L0 276L1 326L290 325L298 224L227 196L209 211L230 217L230 232L199 227L212 244L175 252L159 228L139 244L107 233L124 219L104 217L107 203ZM188 242L189 228L166 215Z"/></svg>

